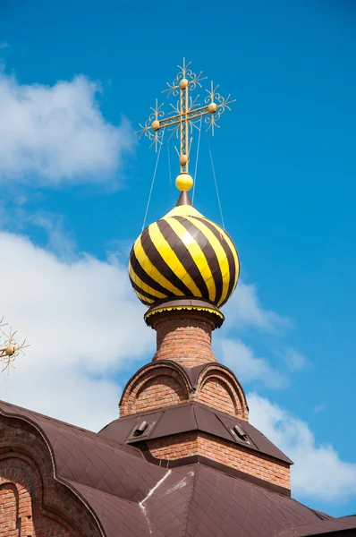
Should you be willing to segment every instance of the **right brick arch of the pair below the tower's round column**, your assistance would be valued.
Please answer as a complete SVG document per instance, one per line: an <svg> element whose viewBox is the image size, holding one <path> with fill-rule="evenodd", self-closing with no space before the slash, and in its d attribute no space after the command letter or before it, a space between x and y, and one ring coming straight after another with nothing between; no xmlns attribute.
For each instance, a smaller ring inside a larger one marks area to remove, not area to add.
<svg viewBox="0 0 356 537"><path fill-rule="evenodd" d="M219 364L202 371L194 399L220 412L249 420L249 409L239 382L231 371Z"/></svg>

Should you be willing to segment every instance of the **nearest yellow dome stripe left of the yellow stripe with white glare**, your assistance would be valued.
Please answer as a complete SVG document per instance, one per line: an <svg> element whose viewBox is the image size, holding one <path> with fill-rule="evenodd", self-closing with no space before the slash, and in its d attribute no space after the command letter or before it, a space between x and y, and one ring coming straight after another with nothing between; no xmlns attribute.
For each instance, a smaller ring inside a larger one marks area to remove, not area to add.
<svg viewBox="0 0 356 537"><path fill-rule="evenodd" d="M196 286L194 280L188 274L186 269L182 266L181 261L177 257L176 253L165 240L165 237L161 233L157 223L154 222L148 227L148 234L152 243L155 244L157 251L159 251L162 258L165 260L169 268L174 274L179 277L185 286L187 286L193 296L202 296L199 287ZM158 280L157 280L158 281ZM183 293L181 292L180 295Z"/></svg>

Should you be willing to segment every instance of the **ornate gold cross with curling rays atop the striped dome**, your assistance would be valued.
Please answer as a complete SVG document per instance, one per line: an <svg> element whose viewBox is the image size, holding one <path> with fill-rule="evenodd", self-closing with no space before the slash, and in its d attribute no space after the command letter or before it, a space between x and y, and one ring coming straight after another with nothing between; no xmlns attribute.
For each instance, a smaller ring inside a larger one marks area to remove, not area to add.
<svg viewBox="0 0 356 537"><path fill-rule="evenodd" d="M181 165L181 173L188 173L189 159L190 159L190 149L191 149L191 140L188 140L189 132L192 132L193 127L197 126L199 119L203 116L205 117L205 123L208 124L208 130L211 130L214 136L214 128L219 127L216 122L220 119L221 115L224 114L225 109L231 110L229 105L234 102L228 95L227 98L223 98L220 93L217 92L219 86L214 87L213 82L211 82L210 90L206 90L208 96L204 99L204 105L199 106L198 98L192 99L190 96L190 91L193 91L199 86L202 88L201 81L207 79L207 77L201 76L201 71L198 76L191 71L190 69L191 62L185 64L185 58L183 58L182 67L178 65L179 72L176 75L172 84L167 82L168 90L163 91L162 93L167 92L167 98L174 96L178 97L178 101L175 105L171 103L173 110L170 112L170 115L165 117L165 113L162 110L163 105L158 106L156 99L156 107L151 107L151 114L148 116L148 120L145 124L140 124L140 137L142 134L148 137L148 140L152 141L150 147L153 145L157 147L158 144L163 143L163 135L165 128L169 127L169 130L172 131L170 138L176 133L177 137L181 141L181 150L179 152L179 163ZM200 119L202 121L202 119Z"/></svg>

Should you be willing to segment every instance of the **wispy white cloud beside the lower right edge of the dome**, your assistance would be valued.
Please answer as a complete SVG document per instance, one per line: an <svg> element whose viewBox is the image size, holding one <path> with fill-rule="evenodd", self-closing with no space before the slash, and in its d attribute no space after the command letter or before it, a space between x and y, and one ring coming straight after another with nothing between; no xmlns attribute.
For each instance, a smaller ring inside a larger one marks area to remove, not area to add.
<svg viewBox="0 0 356 537"><path fill-rule="evenodd" d="M275 311L265 310L259 302L256 286L246 285L241 280L224 307L225 327L233 326L260 328L269 333L277 333L291 326L291 321Z"/></svg>

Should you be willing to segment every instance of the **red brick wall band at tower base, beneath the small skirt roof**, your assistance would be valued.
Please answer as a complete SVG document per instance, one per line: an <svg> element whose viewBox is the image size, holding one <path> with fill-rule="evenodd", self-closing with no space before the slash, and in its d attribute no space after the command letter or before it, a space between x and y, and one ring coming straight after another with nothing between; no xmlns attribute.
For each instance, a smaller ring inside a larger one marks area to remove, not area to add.
<svg viewBox="0 0 356 537"><path fill-rule="evenodd" d="M192 455L206 456L266 482L291 488L289 465L213 435L200 432L176 434L149 440L148 447L156 458L175 460Z"/></svg>

